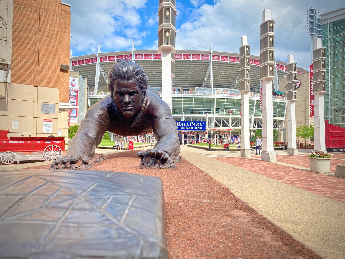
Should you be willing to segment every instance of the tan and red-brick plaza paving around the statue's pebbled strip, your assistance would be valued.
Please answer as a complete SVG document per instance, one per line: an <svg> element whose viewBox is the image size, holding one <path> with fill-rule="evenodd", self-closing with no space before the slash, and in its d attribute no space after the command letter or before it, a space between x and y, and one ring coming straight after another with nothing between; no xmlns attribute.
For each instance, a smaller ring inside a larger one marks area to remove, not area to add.
<svg viewBox="0 0 345 259"><path fill-rule="evenodd" d="M345 179L334 175L345 155L334 154L331 173L320 174L309 172L309 151L298 151L298 156L276 151L275 163L261 161L255 150L251 158L244 158L239 150L207 151L185 145L180 154L321 257L345 258ZM117 152L126 151L96 150ZM13 164L0 170L48 164Z"/></svg>

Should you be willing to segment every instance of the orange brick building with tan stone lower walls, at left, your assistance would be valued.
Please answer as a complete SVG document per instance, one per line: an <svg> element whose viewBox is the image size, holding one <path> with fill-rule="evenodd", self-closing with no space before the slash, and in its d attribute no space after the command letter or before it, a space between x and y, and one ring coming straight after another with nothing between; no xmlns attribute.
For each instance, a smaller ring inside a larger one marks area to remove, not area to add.
<svg viewBox="0 0 345 259"><path fill-rule="evenodd" d="M67 136L69 8L0 1L0 128L9 136Z"/></svg>

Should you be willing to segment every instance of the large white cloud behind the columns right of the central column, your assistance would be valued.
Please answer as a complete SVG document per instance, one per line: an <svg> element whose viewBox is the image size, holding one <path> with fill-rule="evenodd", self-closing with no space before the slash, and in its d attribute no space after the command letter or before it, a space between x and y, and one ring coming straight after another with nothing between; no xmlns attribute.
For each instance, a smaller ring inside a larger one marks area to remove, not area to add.
<svg viewBox="0 0 345 259"><path fill-rule="evenodd" d="M190 0L193 3L193 0ZM322 8L325 2L313 3ZM340 0L328 4L328 10L341 7ZM203 4L177 30L177 49L212 49L238 53L240 38L248 35L252 55L259 56L260 24L262 12L271 8L275 20L275 56L287 60L293 54L297 65L304 68L311 63L311 38L306 33L306 10L310 3L291 0L286 2L270 0L215 0L213 5ZM323 8L326 9L326 8Z"/></svg>

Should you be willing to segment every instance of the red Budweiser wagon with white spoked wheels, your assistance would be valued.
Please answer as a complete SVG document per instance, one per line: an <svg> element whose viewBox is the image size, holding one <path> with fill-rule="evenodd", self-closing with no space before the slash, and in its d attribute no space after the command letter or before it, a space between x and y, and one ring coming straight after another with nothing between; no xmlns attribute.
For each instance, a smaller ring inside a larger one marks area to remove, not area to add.
<svg viewBox="0 0 345 259"><path fill-rule="evenodd" d="M7 137L9 129L0 129L0 164L14 161L55 160L65 151L63 137Z"/></svg>

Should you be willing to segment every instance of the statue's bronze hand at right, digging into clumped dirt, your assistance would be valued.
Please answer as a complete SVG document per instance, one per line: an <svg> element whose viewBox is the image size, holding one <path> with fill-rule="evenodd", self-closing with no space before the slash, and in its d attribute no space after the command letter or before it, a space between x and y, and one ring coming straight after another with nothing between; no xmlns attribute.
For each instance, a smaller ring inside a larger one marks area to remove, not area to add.
<svg viewBox="0 0 345 259"><path fill-rule="evenodd" d="M137 155L141 158L140 166L145 167L176 168L175 163L181 159L180 155L170 156L167 151L159 148L139 151Z"/></svg>

